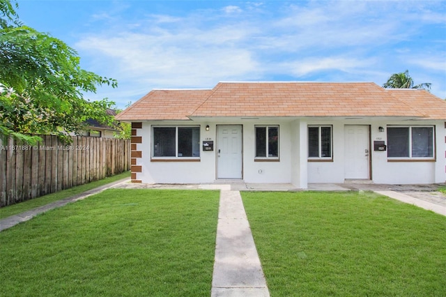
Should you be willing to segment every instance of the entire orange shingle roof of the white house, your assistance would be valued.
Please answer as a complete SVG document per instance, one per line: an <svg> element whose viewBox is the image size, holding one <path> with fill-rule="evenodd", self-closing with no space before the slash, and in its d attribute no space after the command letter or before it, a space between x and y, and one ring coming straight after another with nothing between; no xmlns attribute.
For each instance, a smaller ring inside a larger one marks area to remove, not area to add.
<svg viewBox="0 0 446 297"><path fill-rule="evenodd" d="M118 114L121 121L194 117L402 116L446 119L446 101L371 82L220 82L212 90L155 90Z"/></svg>

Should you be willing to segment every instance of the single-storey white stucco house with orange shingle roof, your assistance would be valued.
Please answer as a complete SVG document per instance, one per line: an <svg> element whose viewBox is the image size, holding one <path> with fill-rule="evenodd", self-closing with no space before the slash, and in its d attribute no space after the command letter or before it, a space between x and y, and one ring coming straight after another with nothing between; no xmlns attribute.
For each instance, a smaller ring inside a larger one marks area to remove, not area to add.
<svg viewBox="0 0 446 297"><path fill-rule="evenodd" d="M156 89L132 123L134 183L444 183L446 101L374 83Z"/></svg>

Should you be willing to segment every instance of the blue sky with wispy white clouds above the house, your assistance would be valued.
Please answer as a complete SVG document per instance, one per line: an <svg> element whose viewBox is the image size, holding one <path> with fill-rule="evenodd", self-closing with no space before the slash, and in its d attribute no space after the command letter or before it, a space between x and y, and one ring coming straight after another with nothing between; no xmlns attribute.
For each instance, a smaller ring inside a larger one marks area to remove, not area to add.
<svg viewBox="0 0 446 297"><path fill-rule="evenodd" d="M151 89L220 81L375 82L409 70L446 98L446 1L18 0L20 20L118 80L118 107Z"/></svg>

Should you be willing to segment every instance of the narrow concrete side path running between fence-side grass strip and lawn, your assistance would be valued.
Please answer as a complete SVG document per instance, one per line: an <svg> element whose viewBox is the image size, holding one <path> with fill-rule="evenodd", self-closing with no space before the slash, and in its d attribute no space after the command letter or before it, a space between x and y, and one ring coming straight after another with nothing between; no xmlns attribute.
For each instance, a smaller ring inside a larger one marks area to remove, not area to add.
<svg viewBox="0 0 446 297"><path fill-rule="evenodd" d="M33 208L30 211L25 211L24 213L19 213L17 215L11 215L8 218L0 220L0 231L3 231L10 227L13 227L16 224L19 224L20 222L26 222L27 220L31 220L32 218L34 218L36 215L39 215L40 213L45 213L45 212L52 210L54 208L65 206L71 202L85 199L86 197L98 194L99 192L102 192L103 190L113 188L114 186L119 185L121 183L127 183L128 181L130 181L130 178L123 178L119 181L115 181L113 183L107 183L107 185L102 185L98 188L94 188L92 190L82 192L81 194L74 195L72 197L68 197L66 199L62 199L59 201L54 201L52 203L46 204L44 206L40 206L38 208Z"/></svg>

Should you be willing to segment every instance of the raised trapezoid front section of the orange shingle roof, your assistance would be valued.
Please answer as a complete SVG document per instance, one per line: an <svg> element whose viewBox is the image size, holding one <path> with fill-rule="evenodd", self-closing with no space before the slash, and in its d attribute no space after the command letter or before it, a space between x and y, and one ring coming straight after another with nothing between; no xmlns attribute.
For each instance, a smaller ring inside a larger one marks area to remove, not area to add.
<svg viewBox="0 0 446 297"><path fill-rule="evenodd" d="M422 116L373 83L220 83L192 116Z"/></svg>

